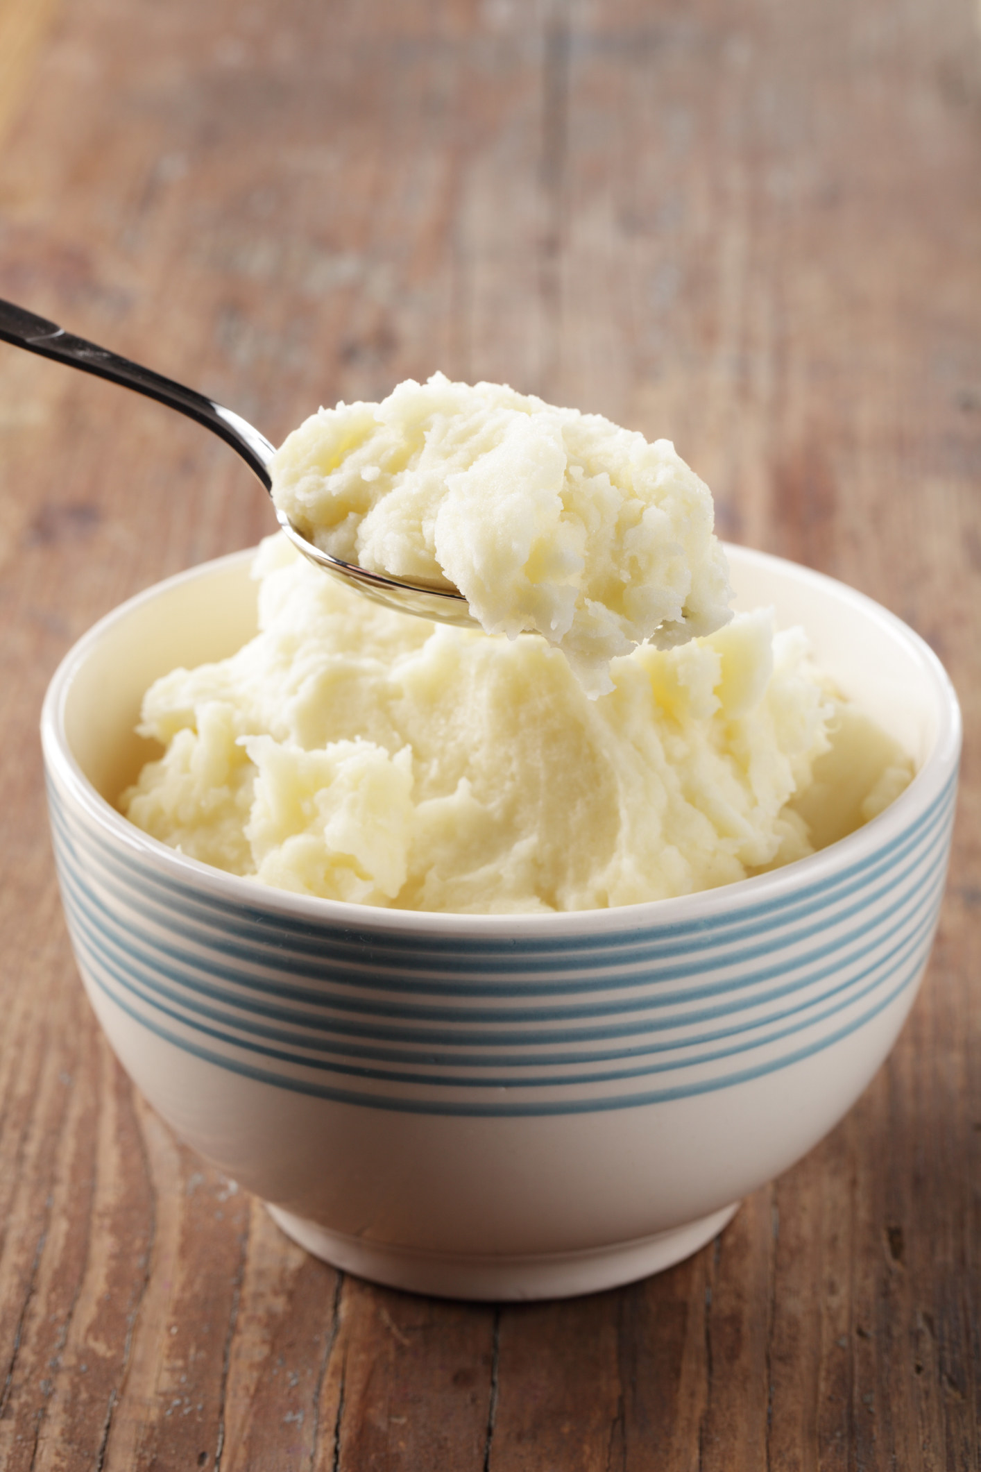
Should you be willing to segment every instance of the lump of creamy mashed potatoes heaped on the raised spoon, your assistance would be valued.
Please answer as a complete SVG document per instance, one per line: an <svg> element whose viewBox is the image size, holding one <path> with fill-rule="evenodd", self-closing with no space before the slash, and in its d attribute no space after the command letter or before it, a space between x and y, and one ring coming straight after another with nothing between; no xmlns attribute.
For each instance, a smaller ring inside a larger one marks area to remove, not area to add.
<svg viewBox="0 0 981 1472"><path fill-rule="evenodd" d="M338 403L277 453L272 495L344 562L457 587L488 633L534 630L590 695L610 659L728 621L707 486L669 440L503 384L413 380Z"/></svg>

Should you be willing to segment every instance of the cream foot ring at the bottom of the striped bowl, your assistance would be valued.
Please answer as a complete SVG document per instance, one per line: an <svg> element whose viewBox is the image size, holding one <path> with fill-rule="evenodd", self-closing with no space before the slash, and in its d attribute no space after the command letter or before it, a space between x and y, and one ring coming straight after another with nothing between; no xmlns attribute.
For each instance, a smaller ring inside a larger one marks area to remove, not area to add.
<svg viewBox="0 0 981 1472"><path fill-rule="evenodd" d="M543 1253L528 1257L427 1253L328 1232L318 1222L266 1204L287 1236L315 1257L368 1278L387 1288L431 1294L437 1298L572 1298L649 1278L697 1253L735 1216L734 1206L712 1211L669 1232L594 1247L581 1253Z"/></svg>

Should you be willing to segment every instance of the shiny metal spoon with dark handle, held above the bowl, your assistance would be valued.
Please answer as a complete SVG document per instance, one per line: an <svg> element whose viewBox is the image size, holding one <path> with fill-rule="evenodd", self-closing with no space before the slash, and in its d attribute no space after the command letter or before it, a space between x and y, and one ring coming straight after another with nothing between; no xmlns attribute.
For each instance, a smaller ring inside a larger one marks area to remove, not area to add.
<svg viewBox="0 0 981 1472"><path fill-rule="evenodd" d="M69 368L81 368L82 372L109 378L110 383L134 389L137 393L146 394L147 399L166 403L168 408L176 409L188 420L197 420L212 434L218 434L226 445L231 445L253 475L272 495L269 465L275 455L275 445L271 445L265 434L253 428L234 409L224 409L213 399L206 399L203 393L185 389L182 384L174 383L172 378L153 372L151 368L143 368L128 358L110 353L106 347L87 343L84 337L74 337L54 322L35 316L34 312L26 312L22 306L15 306L13 302L0 300L0 340L13 343L15 347L25 347L29 353L40 353L41 358L54 358L56 362L68 364ZM304 558L329 573L331 577L347 583L349 587L356 587L366 598L384 604L387 608L394 608L400 614L415 614L419 618L432 618L443 624L479 627L457 589L404 583L384 577L381 573L371 573L365 567L357 567L356 562L341 562L340 558L322 552L321 548L302 536L285 512L278 508L275 511L279 526Z"/></svg>

